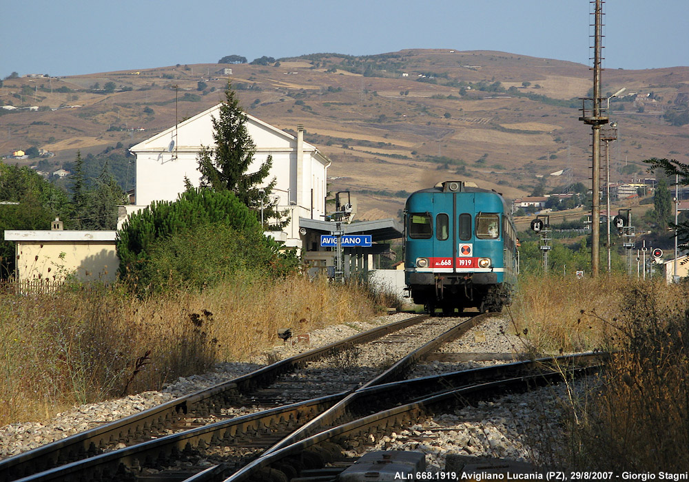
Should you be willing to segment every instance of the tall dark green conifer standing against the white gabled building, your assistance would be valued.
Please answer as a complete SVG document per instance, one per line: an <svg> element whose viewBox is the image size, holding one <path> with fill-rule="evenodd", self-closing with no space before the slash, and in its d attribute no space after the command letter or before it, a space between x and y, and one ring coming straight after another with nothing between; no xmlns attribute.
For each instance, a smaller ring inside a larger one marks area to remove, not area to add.
<svg viewBox="0 0 689 482"><path fill-rule="evenodd" d="M254 163L256 145L249 136L247 115L240 109L232 85L227 83L225 101L220 105L220 117L212 118L215 147L202 146L198 153L198 170L201 173L201 187L210 187L216 191L229 190L249 209L256 211L260 218L263 207L265 220L274 218L271 225L284 227L287 210L278 212L271 202L271 191L276 178L261 187L273 165L273 156L268 156L258 171L249 173Z"/></svg>

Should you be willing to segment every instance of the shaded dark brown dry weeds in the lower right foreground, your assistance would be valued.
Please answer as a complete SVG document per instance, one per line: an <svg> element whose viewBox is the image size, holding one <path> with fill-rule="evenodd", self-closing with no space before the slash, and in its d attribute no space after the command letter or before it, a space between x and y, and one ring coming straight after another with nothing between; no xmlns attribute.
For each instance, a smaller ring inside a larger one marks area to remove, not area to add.
<svg viewBox="0 0 689 482"><path fill-rule="evenodd" d="M617 319L606 320L605 342L615 351L573 426L571 460L587 468L686 472L689 290L631 286L621 306Z"/></svg>

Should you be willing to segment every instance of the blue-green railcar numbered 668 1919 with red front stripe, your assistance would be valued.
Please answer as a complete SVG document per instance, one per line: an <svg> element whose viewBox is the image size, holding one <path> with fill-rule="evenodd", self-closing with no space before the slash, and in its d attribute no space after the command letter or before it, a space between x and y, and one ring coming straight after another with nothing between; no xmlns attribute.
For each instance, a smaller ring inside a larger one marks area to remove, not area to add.
<svg viewBox="0 0 689 482"><path fill-rule="evenodd" d="M511 302L519 268L517 232L500 193L473 182L440 182L404 207L404 270L416 304L444 315Z"/></svg>

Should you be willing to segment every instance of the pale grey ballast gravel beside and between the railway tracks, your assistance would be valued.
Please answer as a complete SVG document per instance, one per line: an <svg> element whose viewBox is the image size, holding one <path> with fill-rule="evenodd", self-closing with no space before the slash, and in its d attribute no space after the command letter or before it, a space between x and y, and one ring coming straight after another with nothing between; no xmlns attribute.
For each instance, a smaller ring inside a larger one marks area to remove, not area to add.
<svg viewBox="0 0 689 482"><path fill-rule="evenodd" d="M183 395L196 392L209 386L223 383L240 375L250 373L267 362L283 359L317 346L336 342L360 331L366 331L381 324L389 324L410 317L408 313L397 313L372 319L367 323L349 323L329 326L309 333L309 344L286 343L276 345L265 359L256 359L256 363L221 363L209 373L180 377L160 391L142 392L121 399L104 401L97 404L86 404L72 410L59 413L45 423L13 423L0 427L0 458L10 457L45 443L63 439L77 432L94 428L103 423L127 417L136 412L147 410L158 404L173 400ZM449 328L450 322L460 319L435 319L438 326L435 331L440 334ZM407 328L407 329L413 329ZM520 340L510 330L505 317L490 319L485 324L473 328L461 339L445 346L445 352L464 353L514 353L515 359L520 351ZM295 340L296 342L297 340ZM356 359L356 366L379 367L397 356L397 343L379 343L380 350L367 355L367 358ZM327 364L328 362L319 362ZM331 365L333 361L329 362ZM352 364L345 359L336 364ZM480 364L491 362L470 362L466 364L433 362L417 369L414 376L431 375L447 371L475 368ZM314 366L314 368L317 368ZM342 368L342 367L340 367ZM345 367L346 368L346 367ZM346 370L340 371L340 376ZM331 375L327 375L331 376ZM535 439L556 440L561 430L559 423L566 415L566 390L560 386L540 388L522 395L509 395L495 402L481 403L476 407L466 407L452 414L438 415L432 420L369 440L360 447L351 448L351 456L369 450L418 450L426 454L429 465L443 468L446 454L465 454L488 457L506 457L520 461L533 461L539 457L539 448L534 446ZM235 410L235 409L232 409ZM256 410L238 408L236 413L242 415ZM534 428L541 434L532 437ZM547 437L546 437L547 435Z"/></svg>

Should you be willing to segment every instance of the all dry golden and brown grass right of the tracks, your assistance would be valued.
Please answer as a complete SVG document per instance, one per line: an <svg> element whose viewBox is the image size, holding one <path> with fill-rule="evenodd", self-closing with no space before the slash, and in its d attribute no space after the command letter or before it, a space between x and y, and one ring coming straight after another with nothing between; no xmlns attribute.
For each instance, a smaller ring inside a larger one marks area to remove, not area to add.
<svg viewBox="0 0 689 482"><path fill-rule="evenodd" d="M689 469L689 286L527 279L512 314L535 350L611 353L599 377L567 401L568 444L553 447L549 460L616 473Z"/></svg>

